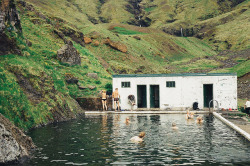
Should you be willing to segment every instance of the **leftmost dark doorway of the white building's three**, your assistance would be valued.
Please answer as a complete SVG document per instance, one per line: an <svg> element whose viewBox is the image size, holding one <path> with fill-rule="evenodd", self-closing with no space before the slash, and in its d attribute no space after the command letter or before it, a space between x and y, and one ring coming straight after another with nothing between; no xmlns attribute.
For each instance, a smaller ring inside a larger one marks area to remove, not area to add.
<svg viewBox="0 0 250 166"><path fill-rule="evenodd" d="M137 85L138 108L147 108L147 86Z"/></svg>

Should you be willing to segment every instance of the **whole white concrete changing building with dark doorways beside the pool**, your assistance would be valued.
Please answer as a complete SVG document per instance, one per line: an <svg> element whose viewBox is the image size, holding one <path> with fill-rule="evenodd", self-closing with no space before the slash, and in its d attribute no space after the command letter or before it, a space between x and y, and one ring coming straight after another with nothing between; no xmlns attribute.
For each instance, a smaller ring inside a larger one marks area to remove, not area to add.
<svg viewBox="0 0 250 166"><path fill-rule="evenodd" d="M122 110L130 110L128 96L134 95L134 110L185 110L194 102L203 109L237 109L237 75L234 73L123 74L113 75ZM218 102L218 104L217 104Z"/></svg>

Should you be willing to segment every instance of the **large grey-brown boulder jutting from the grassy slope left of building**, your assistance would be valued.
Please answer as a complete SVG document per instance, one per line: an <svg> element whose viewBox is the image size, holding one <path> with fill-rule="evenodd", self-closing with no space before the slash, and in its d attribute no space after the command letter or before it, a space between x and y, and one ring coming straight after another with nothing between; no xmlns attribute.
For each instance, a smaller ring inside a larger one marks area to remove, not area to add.
<svg viewBox="0 0 250 166"><path fill-rule="evenodd" d="M69 65L81 65L80 54L71 42L57 51L57 59Z"/></svg>

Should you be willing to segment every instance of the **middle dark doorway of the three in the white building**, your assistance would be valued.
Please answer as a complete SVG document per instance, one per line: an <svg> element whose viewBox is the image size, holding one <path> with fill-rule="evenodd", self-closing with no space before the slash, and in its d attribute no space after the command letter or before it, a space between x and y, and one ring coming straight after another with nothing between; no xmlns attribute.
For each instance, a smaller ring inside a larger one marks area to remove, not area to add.
<svg viewBox="0 0 250 166"><path fill-rule="evenodd" d="M159 85L150 85L150 108L159 108Z"/></svg>

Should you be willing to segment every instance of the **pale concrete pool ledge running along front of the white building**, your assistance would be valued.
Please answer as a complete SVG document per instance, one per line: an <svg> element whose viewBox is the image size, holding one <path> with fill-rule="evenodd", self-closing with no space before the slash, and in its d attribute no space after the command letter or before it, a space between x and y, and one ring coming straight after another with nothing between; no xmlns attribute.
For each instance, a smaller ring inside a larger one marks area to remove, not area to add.
<svg viewBox="0 0 250 166"><path fill-rule="evenodd" d="M195 114L207 114L208 111L191 111ZM85 114L186 114L186 111L85 111Z"/></svg>

